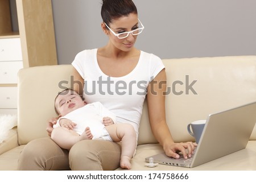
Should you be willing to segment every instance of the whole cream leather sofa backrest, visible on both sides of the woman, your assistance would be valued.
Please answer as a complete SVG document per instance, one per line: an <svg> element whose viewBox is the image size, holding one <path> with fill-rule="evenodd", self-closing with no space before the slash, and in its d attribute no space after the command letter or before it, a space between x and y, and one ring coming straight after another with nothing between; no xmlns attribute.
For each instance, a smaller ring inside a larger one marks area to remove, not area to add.
<svg viewBox="0 0 256 182"><path fill-rule="evenodd" d="M175 142L193 140L188 123L208 114L256 101L256 56L164 59L166 119ZM54 98L71 85L72 65L24 68L18 79L18 140L47 137L46 122L56 116ZM256 140L254 129L251 138ZM157 143L144 103L138 144Z"/></svg>

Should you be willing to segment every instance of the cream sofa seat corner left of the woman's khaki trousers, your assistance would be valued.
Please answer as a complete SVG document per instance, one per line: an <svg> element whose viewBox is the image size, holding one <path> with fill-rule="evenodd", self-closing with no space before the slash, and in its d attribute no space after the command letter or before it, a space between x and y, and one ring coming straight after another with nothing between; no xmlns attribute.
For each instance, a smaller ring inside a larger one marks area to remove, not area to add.
<svg viewBox="0 0 256 182"><path fill-rule="evenodd" d="M18 167L19 154L25 145L15 147L0 155L0 171L16 171Z"/></svg>

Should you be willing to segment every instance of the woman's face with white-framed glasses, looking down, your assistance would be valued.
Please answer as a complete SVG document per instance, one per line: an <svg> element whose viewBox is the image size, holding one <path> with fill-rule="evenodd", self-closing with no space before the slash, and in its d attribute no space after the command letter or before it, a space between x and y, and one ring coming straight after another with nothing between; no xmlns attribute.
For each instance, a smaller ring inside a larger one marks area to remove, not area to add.
<svg viewBox="0 0 256 182"><path fill-rule="evenodd" d="M138 15L129 14L128 16L113 19L112 23L109 24L109 27L115 32L115 34L133 31L138 28ZM119 39L110 30L108 30L108 28L106 28L106 30L108 31L110 42L121 51L130 51L133 48L138 36L129 34L127 38Z"/></svg>

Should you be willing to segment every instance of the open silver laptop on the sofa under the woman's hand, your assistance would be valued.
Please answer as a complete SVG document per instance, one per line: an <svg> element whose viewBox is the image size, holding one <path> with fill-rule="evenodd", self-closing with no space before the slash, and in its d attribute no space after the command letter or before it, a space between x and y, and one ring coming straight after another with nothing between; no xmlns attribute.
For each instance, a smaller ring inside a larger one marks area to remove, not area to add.
<svg viewBox="0 0 256 182"><path fill-rule="evenodd" d="M210 114L192 158L174 159L164 153L154 158L154 163L180 167L196 167L221 158L246 147L256 122L256 102Z"/></svg>

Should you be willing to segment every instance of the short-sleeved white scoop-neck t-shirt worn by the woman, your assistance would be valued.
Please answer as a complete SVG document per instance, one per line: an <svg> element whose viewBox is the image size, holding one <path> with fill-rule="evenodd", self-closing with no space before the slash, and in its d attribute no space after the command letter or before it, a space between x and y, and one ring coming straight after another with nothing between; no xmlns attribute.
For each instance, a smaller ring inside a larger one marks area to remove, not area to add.
<svg viewBox="0 0 256 182"><path fill-rule="evenodd" d="M116 115L117 122L133 125L138 137L147 86L164 68L162 60L152 53L141 51L133 71L126 76L110 77L98 65L96 48L79 52L72 65L84 78L85 101L100 101Z"/></svg>

